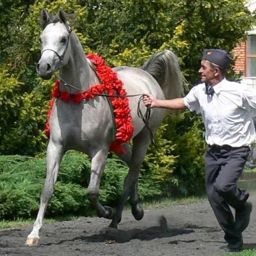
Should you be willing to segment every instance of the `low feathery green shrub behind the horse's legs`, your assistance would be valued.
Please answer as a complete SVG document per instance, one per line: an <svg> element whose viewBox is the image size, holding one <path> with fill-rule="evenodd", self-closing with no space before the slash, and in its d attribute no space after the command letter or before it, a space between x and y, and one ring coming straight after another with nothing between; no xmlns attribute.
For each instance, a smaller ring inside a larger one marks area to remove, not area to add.
<svg viewBox="0 0 256 256"><path fill-rule="evenodd" d="M46 177L46 160L25 156L0 156L0 220L35 217ZM54 194L46 216L95 214L87 196L90 181L90 159L75 151L62 160ZM116 206L122 196L128 167L116 158L108 159L100 184L103 205ZM142 171L139 194L142 199L161 194L156 180Z"/></svg>

